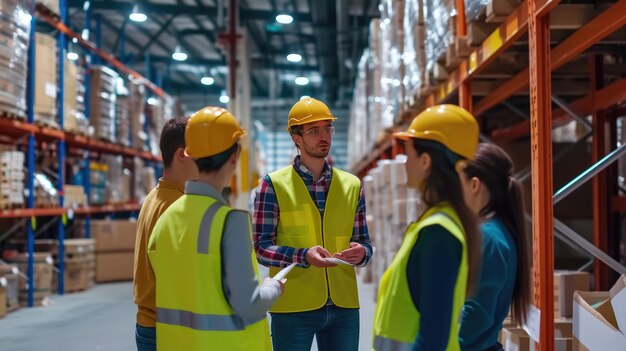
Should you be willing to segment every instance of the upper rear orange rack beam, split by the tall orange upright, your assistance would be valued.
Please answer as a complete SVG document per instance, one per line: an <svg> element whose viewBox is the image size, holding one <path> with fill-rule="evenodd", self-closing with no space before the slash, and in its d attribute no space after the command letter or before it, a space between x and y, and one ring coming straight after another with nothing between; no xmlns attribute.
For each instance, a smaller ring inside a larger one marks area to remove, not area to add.
<svg viewBox="0 0 626 351"><path fill-rule="evenodd" d="M626 0L620 0L554 48L550 55L550 67L552 70L561 67L624 25L626 25ZM526 68L500 85L476 104L474 112L482 114L522 90L528 84L528 72Z"/></svg>

